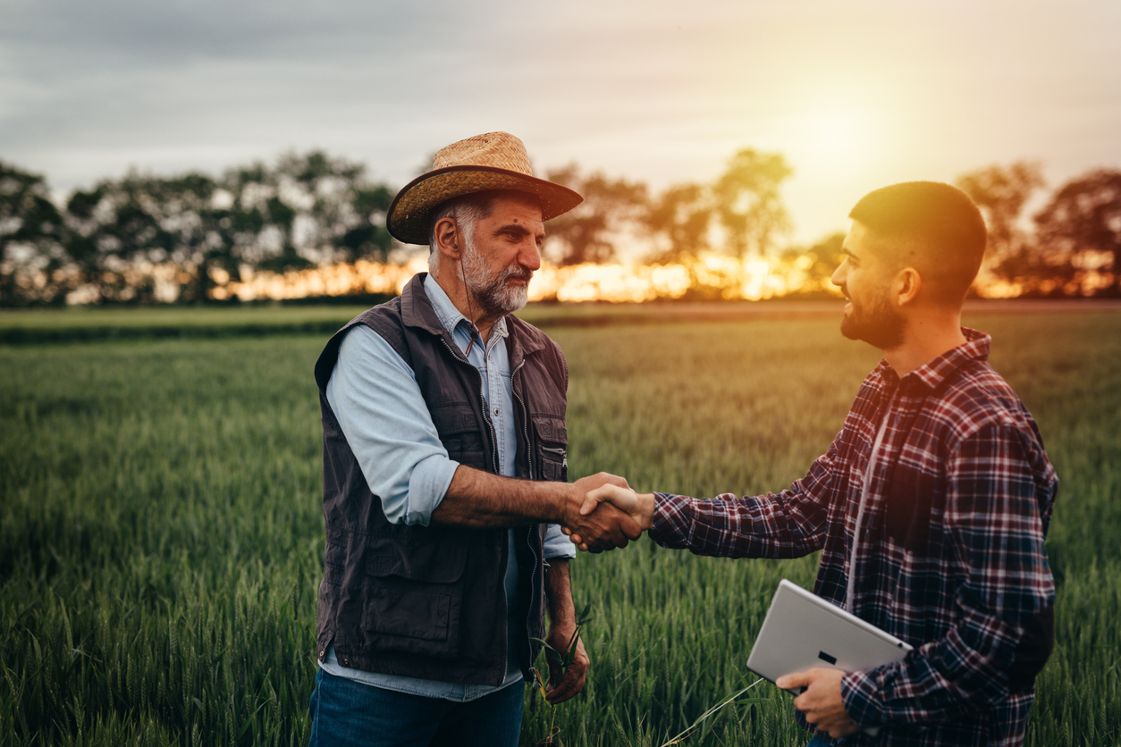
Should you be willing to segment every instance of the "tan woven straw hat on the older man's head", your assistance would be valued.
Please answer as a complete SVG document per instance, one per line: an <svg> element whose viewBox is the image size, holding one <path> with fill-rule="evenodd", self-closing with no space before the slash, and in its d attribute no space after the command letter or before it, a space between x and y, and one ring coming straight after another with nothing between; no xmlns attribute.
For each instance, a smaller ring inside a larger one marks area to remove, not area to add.
<svg viewBox="0 0 1121 747"><path fill-rule="evenodd" d="M441 149L432 170L405 185L393 197L386 227L406 244L427 244L428 216L434 207L453 197L489 189L536 196L543 221L567 213L584 200L567 187L535 177L521 140L508 132L488 132Z"/></svg>

